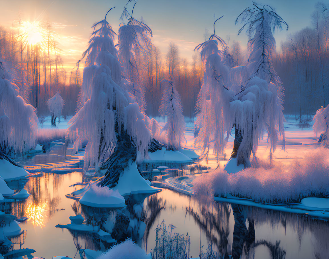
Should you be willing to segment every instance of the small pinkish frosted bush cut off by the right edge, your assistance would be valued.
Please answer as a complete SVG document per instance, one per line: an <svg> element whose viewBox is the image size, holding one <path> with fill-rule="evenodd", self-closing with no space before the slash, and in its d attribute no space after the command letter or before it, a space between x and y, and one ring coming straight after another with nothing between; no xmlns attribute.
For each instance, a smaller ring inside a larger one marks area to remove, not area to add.
<svg viewBox="0 0 329 259"><path fill-rule="evenodd" d="M328 140L328 122L327 117L329 115L329 105L325 108L323 106L316 111L314 115L313 121L313 130L314 136L317 136L317 133L323 133L322 136L322 144L325 147L329 147L329 140Z"/></svg>

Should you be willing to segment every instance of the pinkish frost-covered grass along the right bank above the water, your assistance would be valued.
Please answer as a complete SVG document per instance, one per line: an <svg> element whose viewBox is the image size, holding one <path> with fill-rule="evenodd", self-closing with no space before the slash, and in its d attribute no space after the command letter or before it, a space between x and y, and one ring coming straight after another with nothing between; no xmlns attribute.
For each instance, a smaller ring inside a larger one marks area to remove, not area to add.
<svg viewBox="0 0 329 259"><path fill-rule="evenodd" d="M329 196L329 151L319 148L290 165L259 161L235 174L217 169L197 177L196 195L226 197L227 193L256 202L284 204L305 197Z"/></svg>

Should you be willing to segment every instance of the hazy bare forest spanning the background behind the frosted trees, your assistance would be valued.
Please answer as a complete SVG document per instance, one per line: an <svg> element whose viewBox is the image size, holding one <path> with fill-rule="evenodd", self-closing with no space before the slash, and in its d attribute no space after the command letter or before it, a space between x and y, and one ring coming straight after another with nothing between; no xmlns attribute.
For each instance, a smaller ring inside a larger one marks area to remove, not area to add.
<svg viewBox="0 0 329 259"><path fill-rule="evenodd" d="M281 44L280 52L272 56L274 68L285 88L284 113L307 115L308 119L329 103L329 10L318 4L311 20L310 27L290 34ZM74 69L70 74L64 70L51 22L42 26L47 40L41 49L29 45L19 30L0 27L0 59L11 64L15 71L12 77L20 88L20 95L37 107L39 117L50 114L46 101L57 91L65 101L63 116L73 115L82 72ZM220 35L220 31L217 33ZM204 37L207 39L207 30ZM231 66L246 65L248 53L242 51L240 43L233 41L228 45L224 52L232 56ZM178 46L170 43L167 53L162 54L153 46L149 52L139 53L136 60L136 76L145 88L147 115L159 115L161 81L168 79L170 73L181 95L184 115L194 117L197 95L203 83L203 68L197 51L189 62L180 57Z"/></svg>

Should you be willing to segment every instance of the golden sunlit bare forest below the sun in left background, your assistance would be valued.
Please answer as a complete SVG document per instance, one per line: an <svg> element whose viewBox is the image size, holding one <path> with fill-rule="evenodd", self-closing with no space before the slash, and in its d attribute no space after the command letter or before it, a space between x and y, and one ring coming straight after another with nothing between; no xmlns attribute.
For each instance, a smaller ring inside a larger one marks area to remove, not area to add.
<svg viewBox="0 0 329 259"><path fill-rule="evenodd" d="M67 83L50 22L38 28L43 40L37 44L29 42L31 39L22 29L27 26L36 25L19 24L18 28L11 30L0 27L0 61L10 67L14 73L13 82L20 89L19 94L36 108L38 116L49 115L46 101L57 91L66 103L63 116L73 115L79 88L76 83Z"/></svg>

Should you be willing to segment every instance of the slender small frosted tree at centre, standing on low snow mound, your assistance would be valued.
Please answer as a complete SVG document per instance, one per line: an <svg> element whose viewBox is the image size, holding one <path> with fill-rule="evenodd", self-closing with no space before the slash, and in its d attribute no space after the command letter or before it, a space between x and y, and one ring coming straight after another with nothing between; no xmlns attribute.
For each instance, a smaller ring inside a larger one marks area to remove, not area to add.
<svg viewBox="0 0 329 259"><path fill-rule="evenodd" d="M161 85L163 92L159 113L161 116L167 116L162 130L167 133L167 150L176 151L181 148L185 132L181 97L171 81L163 80Z"/></svg>

